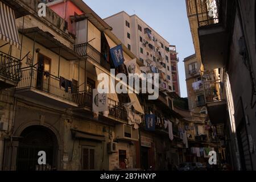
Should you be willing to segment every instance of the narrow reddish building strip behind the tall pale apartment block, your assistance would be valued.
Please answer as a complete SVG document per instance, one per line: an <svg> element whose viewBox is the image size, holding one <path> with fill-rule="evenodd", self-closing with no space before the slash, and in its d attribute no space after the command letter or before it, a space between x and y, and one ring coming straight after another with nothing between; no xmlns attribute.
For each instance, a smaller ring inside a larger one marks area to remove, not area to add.
<svg viewBox="0 0 256 182"><path fill-rule="evenodd" d="M180 80L179 80L179 57L176 46L170 45L170 59L171 59L171 71L172 71L172 89L173 91L180 96Z"/></svg>

